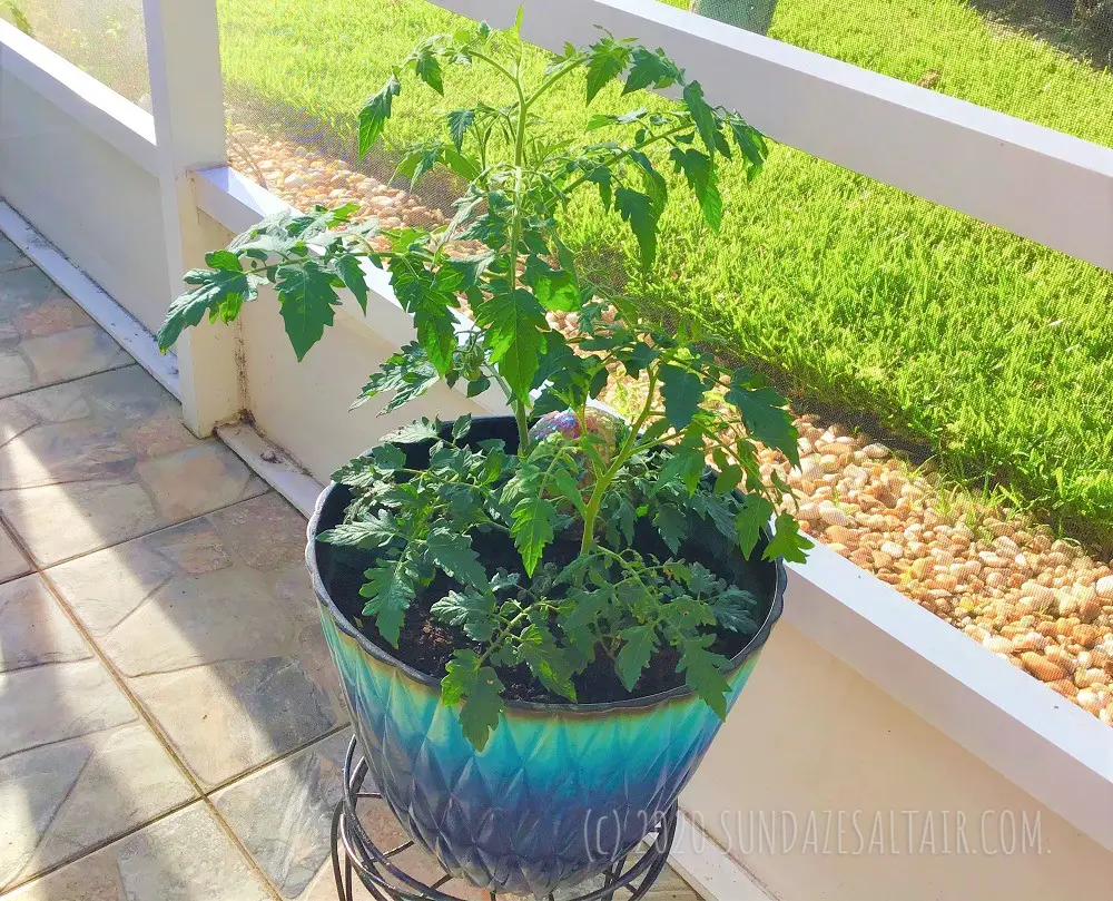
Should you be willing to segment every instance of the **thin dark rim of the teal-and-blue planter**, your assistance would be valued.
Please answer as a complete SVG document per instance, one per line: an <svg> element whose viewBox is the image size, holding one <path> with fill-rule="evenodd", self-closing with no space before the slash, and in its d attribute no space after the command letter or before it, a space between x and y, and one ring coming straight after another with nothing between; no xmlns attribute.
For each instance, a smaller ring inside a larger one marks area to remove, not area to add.
<svg viewBox="0 0 1113 901"><path fill-rule="evenodd" d="M501 417L483 417L483 419L501 419ZM397 659L392 654L387 653L370 638L364 635L359 629L357 629L344 615L344 613L337 607L336 603L333 600L332 594L325 587L324 579L321 576L321 570L317 567L317 523L321 520L321 515L324 510L325 503L333 493L333 491L342 488L336 482L329 482L325 489L317 496L317 503L313 511L313 517L309 519L309 523L306 527L306 547L305 547L305 565L309 570L309 576L313 579L313 590L317 596L318 603L323 604L328 613L331 614L333 621L336 623L337 627L346 634L348 637L355 639L359 645L361 649L365 654L370 654L380 663L387 664L397 669L401 669L406 676L421 683L432 689L437 694L441 692L441 680L423 673L420 669L414 668L407 663L403 663ZM768 562L768 561L766 561ZM752 657L758 650L760 650L765 643L769 639L769 634L772 631L774 625L780 619L781 614L785 609L785 589L788 582L788 570L785 567L784 560L777 560L774 566L775 581L772 589L772 601L769 605L769 611L766 614L765 620L762 620L758 630L754 634L754 637L746 643L733 657L730 658L730 667L727 669L728 675L736 673L747 659ZM689 688L687 685L678 685L676 688L670 688L667 692L657 692L652 695L644 695L642 697L631 697L626 701L600 701L592 704L574 704L571 702L559 702L559 703L541 703L536 701L516 701L506 698L504 699L504 706L506 712L512 709L519 709L530 713L544 713L544 712L556 712L556 713L599 713L613 709L639 709L646 707L656 707L659 704L672 701L672 699L687 699L690 697L696 697L696 692Z"/></svg>

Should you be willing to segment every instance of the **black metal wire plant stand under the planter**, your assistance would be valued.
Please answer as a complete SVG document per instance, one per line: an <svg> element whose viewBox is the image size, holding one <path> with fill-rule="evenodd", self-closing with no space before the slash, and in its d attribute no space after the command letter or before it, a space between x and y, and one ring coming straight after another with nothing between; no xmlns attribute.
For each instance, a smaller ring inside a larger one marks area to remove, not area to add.
<svg viewBox="0 0 1113 901"><path fill-rule="evenodd" d="M457 895L446 894L440 888L452 876L445 873L433 884L426 884L392 862L392 858L413 846L412 841L383 851L371 839L357 815L358 802L364 799L381 799L378 792L363 791L367 777L367 762L359 757L356 763L356 741L352 740L344 758L344 797L333 813L333 876L339 901L355 901L352 893L354 876L376 901L462 901ZM602 888L563 897L561 901L612 901L619 893L620 901L637 901L657 882L664 869L677 831L677 805L669 809L654 827L657 836L646 853L629 870L627 859L615 862L603 878ZM651 832L654 830L651 830ZM491 892L491 901L496 894ZM549 895L548 901L554 901Z"/></svg>

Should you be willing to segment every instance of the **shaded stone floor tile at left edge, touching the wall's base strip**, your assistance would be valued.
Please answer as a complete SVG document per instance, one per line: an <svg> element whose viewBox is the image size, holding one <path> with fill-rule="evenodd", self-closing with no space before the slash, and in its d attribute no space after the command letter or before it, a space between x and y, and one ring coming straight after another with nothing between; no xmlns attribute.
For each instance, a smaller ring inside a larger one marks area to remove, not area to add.
<svg viewBox="0 0 1113 901"><path fill-rule="evenodd" d="M131 358L38 268L3 268L0 398L127 365Z"/></svg>

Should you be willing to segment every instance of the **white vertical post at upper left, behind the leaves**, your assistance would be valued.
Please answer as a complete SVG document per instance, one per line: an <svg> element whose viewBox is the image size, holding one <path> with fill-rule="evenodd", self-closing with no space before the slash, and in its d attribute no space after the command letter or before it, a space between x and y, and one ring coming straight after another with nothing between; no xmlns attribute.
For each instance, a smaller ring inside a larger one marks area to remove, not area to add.
<svg viewBox="0 0 1113 901"><path fill-rule="evenodd" d="M166 234L167 296L203 264L205 239L190 172L227 163L215 0L144 0L156 157ZM240 407L235 334L208 323L177 344L181 408L198 435Z"/></svg>

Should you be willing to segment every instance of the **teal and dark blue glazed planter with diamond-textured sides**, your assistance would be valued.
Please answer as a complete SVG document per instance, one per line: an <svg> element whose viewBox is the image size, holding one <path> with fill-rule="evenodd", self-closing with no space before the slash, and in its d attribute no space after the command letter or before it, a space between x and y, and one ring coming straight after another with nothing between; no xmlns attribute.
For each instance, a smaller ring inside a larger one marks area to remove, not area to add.
<svg viewBox="0 0 1113 901"><path fill-rule="evenodd" d="M512 419L492 417L475 420L469 439L512 445L515 434ZM410 453L407 466L427 464L427 447ZM341 521L349 500L344 486L321 494L306 559L356 736L387 805L450 873L483 889L544 897L604 872L671 806L719 718L687 687L610 704L510 701L477 752L455 711L441 705L440 680L370 640L333 598L344 564L316 536ZM782 565L757 555L731 568L768 608L730 662L728 708L780 617L786 578Z"/></svg>

